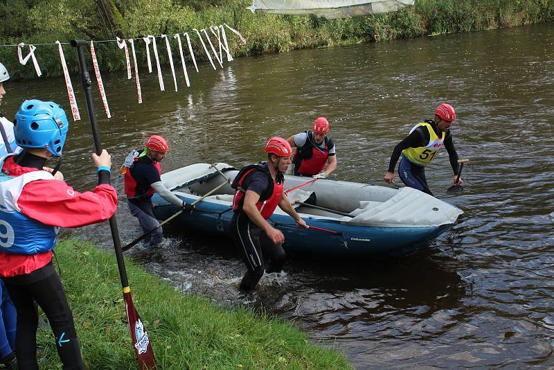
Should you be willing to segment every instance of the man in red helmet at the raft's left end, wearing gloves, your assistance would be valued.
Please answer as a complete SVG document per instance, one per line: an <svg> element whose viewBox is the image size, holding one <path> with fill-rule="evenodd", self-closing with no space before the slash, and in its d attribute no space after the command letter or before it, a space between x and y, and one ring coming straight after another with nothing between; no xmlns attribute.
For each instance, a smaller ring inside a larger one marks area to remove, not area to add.
<svg viewBox="0 0 554 370"><path fill-rule="evenodd" d="M127 206L134 217L139 219L143 233L155 229L145 238L145 244L152 250L163 238L163 229L154 216L152 195L158 193L164 200L175 206L182 207L185 211L193 211L194 207L180 200L177 195L171 193L161 182L160 162L166 158L169 150L168 142L162 136L152 135L146 141L144 150L134 151L133 162L129 170L125 170L125 195Z"/></svg>

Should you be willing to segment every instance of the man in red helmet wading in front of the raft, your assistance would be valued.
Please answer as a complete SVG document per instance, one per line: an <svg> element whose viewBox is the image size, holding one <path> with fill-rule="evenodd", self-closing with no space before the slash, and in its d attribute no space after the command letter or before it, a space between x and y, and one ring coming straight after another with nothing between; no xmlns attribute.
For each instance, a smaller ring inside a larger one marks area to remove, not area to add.
<svg viewBox="0 0 554 370"><path fill-rule="evenodd" d="M283 191L283 175L291 164L291 146L283 138L272 137L265 152L267 163L244 166L231 184L235 189L231 235L247 265L239 285L244 293L256 288L264 271L280 272L285 263L285 236L267 222L277 206L294 218L298 227L306 227ZM267 265L264 255L269 256Z"/></svg>

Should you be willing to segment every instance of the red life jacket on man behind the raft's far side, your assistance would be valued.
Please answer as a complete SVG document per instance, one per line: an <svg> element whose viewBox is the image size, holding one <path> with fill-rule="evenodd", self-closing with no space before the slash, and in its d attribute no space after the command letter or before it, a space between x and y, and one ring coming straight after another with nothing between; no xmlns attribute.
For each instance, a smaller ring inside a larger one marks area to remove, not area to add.
<svg viewBox="0 0 554 370"><path fill-rule="evenodd" d="M303 176L313 176L320 173L329 157L329 148L332 148L332 141L325 136L325 147L314 146L314 133L306 131L307 139L301 148L296 148L292 162L294 163L294 174Z"/></svg>

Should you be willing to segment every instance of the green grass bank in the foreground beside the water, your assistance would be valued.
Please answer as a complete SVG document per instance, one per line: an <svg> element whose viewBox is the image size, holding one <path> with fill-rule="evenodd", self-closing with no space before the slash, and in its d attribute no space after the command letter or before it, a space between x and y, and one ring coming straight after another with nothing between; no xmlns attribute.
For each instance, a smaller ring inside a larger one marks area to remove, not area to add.
<svg viewBox="0 0 554 370"><path fill-rule="evenodd" d="M75 238L55 251L85 364L136 369L115 257ZM160 369L351 369L343 355L310 343L292 324L183 295L129 261L127 272ZM38 343L40 368L58 369L48 326L39 329Z"/></svg>

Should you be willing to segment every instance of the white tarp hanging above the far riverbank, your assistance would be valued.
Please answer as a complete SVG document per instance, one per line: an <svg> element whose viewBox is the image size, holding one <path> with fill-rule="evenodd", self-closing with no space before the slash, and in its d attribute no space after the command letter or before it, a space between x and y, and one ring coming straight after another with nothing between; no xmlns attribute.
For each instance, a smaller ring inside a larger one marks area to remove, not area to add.
<svg viewBox="0 0 554 370"><path fill-rule="evenodd" d="M253 0L248 9L275 14L314 14L327 19L395 12L415 0Z"/></svg>

